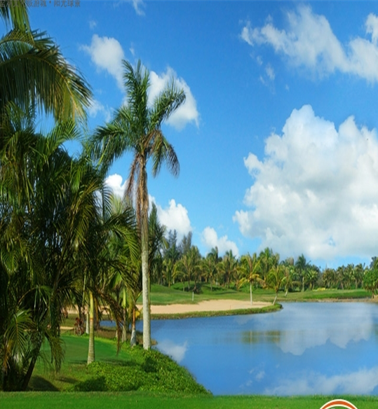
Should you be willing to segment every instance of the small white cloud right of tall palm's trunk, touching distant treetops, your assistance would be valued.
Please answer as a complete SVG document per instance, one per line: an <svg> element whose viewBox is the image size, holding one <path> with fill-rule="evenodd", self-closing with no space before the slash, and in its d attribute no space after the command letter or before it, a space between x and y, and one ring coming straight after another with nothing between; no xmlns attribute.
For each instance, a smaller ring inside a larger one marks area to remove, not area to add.
<svg viewBox="0 0 378 409"><path fill-rule="evenodd" d="M167 230L177 231L177 240L182 240L184 235L187 235L191 231L190 220L187 209L175 200L169 201L169 207L163 209L161 205L156 203L154 197L150 197L151 202L155 202L158 211L159 221L166 226Z"/></svg>

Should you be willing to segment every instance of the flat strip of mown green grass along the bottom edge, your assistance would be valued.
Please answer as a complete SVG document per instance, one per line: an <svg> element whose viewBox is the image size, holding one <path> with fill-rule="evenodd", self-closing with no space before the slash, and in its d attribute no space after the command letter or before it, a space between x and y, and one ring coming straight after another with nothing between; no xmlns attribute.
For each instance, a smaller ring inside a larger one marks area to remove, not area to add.
<svg viewBox="0 0 378 409"><path fill-rule="evenodd" d="M128 393L8 393L0 394L1 409L320 409L339 396L179 396L151 392ZM342 396L358 409L376 409L377 397Z"/></svg>

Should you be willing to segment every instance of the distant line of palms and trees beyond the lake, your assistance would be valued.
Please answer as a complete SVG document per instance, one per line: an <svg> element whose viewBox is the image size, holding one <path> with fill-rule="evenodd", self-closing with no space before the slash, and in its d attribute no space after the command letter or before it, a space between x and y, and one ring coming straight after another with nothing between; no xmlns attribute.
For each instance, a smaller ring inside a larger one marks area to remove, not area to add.
<svg viewBox="0 0 378 409"><path fill-rule="evenodd" d="M177 233L168 232L166 243L161 244L161 270L151 279L157 284L170 286L182 282L183 291L200 291L200 283L250 290L270 288L278 291L306 291L313 289L368 289L373 293L378 283L378 261L373 257L369 266L359 263L342 265L323 270L307 261L301 254L281 260L280 255L268 247L259 254L244 254L236 257L231 250L223 256L217 247L202 256L198 247L191 244L191 233L177 242ZM369 284L372 281L374 284ZM251 296L252 299L252 296Z"/></svg>

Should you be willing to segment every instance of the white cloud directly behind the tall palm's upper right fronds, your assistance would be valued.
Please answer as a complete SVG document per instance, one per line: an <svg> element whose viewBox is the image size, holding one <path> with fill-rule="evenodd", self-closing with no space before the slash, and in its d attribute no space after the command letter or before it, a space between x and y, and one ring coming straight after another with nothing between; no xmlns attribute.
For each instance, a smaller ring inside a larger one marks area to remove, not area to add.
<svg viewBox="0 0 378 409"><path fill-rule="evenodd" d="M151 88L149 90L149 99L153 101L154 98L163 90L163 88L170 82L171 78L175 82L178 89L182 89L185 92L186 99L177 111L175 111L167 123L172 125L177 130L181 130L187 123L194 122L198 126L199 114L197 111L196 99L189 88L189 85L182 78L178 78L173 69L168 67L167 71L160 76L156 72L150 72Z"/></svg>

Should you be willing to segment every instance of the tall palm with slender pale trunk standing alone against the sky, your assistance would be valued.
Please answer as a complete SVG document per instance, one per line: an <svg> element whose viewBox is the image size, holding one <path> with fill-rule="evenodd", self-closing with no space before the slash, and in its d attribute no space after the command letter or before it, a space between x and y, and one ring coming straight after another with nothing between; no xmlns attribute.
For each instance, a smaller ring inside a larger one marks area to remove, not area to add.
<svg viewBox="0 0 378 409"><path fill-rule="evenodd" d="M179 162L171 144L161 131L161 124L184 102L183 90L177 90L173 81L149 102L149 71L137 62L134 68L123 61L127 104L121 106L111 123L100 127L93 138L95 155L108 166L126 151L133 151L126 195L134 197L137 225L142 243L143 288L143 347L151 347L149 307L149 197L147 189L147 162L152 160L152 175L156 176L166 163L170 172L179 173Z"/></svg>

